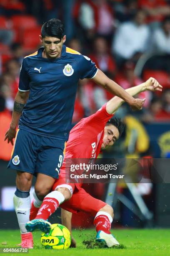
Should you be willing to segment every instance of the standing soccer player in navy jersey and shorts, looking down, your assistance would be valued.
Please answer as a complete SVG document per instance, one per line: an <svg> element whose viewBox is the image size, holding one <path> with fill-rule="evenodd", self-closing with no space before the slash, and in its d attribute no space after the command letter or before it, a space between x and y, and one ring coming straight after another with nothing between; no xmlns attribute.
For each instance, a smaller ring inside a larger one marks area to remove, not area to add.
<svg viewBox="0 0 170 256"><path fill-rule="evenodd" d="M65 40L60 20L52 19L42 25L43 47L23 60L13 117L5 134L8 143L13 144L15 138L8 168L17 171L13 200L22 247L33 247L32 233L25 228L30 215L32 176L37 176L35 192L41 204L62 166L78 80L93 79L133 109L143 107L143 100L129 95L88 57L65 47Z"/></svg>

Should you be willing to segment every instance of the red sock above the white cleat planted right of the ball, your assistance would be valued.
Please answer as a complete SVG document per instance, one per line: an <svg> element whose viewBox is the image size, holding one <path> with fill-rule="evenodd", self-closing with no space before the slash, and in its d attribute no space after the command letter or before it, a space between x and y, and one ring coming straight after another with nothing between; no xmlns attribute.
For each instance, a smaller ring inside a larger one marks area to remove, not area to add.
<svg viewBox="0 0 170 256"><path fill-rule="evenodd" d="M94 219L93 224L95 225L96 231L104 231L107 234L110 233L111 223L106 215L99 215Z"/></svg>

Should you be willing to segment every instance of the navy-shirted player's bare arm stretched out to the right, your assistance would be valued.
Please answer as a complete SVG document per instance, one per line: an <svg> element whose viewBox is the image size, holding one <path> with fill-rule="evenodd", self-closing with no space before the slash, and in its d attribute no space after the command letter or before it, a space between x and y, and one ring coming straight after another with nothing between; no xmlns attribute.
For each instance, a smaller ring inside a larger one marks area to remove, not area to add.
<svg viewBox="0 0 170 256"><path fill-rule="evenodd" d="M126 92L117 83L109 79L100 69L98 69L97 74L92 78L95 83L100 84L106 90L120 97L122 100L126 101L133 110L139 110L143 107L143 100L135 99Z"/></svg>

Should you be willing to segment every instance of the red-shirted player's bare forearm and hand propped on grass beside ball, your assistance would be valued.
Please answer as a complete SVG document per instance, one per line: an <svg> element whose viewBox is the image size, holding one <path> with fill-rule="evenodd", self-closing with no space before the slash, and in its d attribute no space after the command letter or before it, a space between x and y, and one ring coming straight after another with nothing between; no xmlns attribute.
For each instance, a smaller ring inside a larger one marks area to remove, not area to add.
<svg viewBox="0 0 170 256"><path fill-rule="evenodd" d="M72 212L68 212L64 209L61 209L61 223L64 225L71 234L71 245L70 247L76 247L76 241L72 236L72 227L71 227L71 219L72 219Z"/></svg>

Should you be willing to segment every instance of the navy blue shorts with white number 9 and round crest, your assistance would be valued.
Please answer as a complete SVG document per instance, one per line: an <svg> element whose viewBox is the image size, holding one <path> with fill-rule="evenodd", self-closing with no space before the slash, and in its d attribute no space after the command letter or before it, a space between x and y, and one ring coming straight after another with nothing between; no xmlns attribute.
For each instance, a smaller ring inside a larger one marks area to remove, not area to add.
<svg viewBox="0 0 170 256"><path fill-rule="evenodd" d="M18 129L7 168L58 178L65 147L66 141Z"/></svg>

